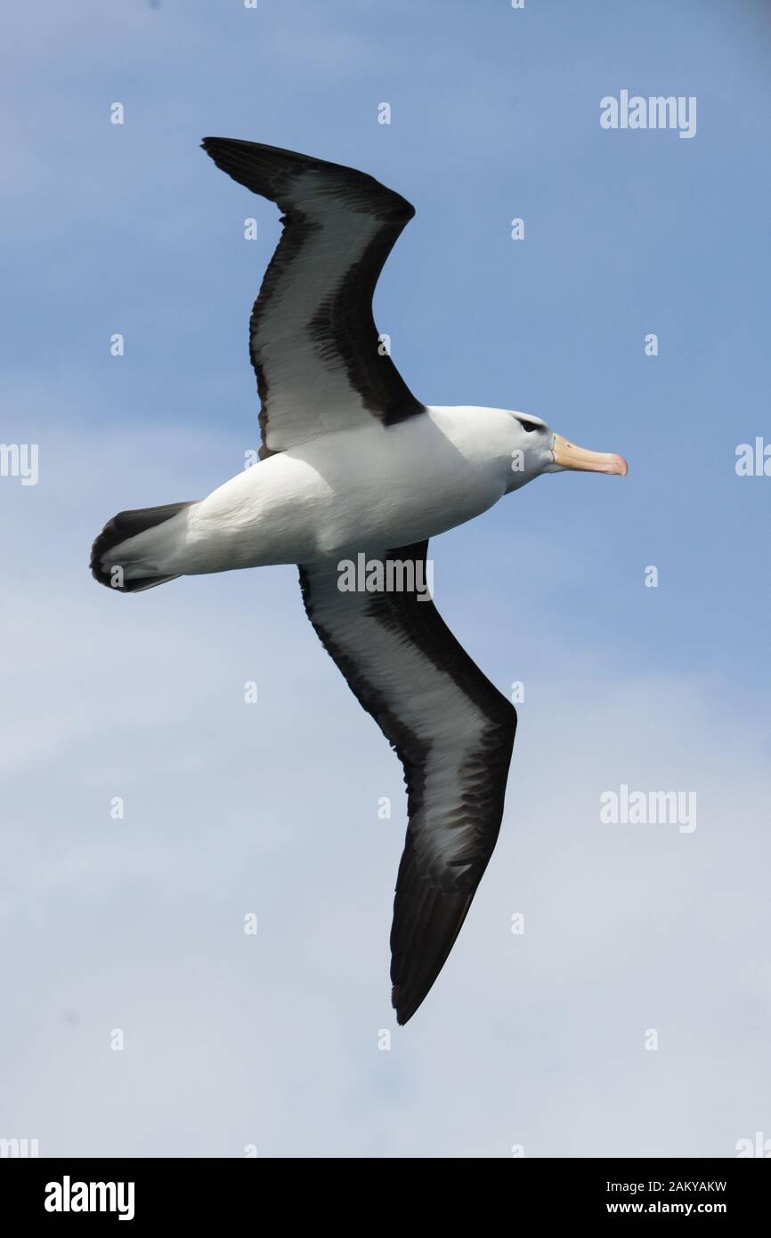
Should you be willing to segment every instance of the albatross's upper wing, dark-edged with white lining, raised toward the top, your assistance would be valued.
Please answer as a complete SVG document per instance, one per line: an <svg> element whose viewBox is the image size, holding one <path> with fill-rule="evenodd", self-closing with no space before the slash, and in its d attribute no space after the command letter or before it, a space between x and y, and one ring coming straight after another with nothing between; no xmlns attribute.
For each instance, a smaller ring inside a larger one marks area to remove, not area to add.
<svg viewBox="0 0 771 1238"><path fill-rule="evenodd" d="M371 176L277 146L204 137L223 172L275 202L283 233L251 311L261 456L368 416L424 412L379 343L373 293L415 208Z"/></svg>

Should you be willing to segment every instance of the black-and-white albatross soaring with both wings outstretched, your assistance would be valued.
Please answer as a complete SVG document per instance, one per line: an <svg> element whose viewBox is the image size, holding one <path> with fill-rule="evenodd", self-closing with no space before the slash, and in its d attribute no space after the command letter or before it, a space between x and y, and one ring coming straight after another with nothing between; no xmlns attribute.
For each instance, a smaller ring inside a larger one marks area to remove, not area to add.
<svg viewBox="0 0 771 1238"><path fill-rule="evenodd" d="M202 146L282 213L249 323L259 462L205 499L120 511L90 568L101 584L139 593L179 576L298 565L308 619L403 766L391 1000L405 1024L493 854L516 730L514 706L423 588L428 540L542 473L625 475L626 462L577 447L536 416L416 399L373 317L380 271L415 214L398 193L277 146ZM381 565L381 587L343 584L343 562L361 555Z"/></svg>

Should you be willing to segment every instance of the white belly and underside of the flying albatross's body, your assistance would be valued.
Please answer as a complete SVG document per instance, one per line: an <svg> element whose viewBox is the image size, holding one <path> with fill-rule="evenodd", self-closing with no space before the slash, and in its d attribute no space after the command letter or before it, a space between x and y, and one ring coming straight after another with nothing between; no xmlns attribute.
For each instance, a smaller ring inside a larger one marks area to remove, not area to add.
<svg viewBox="0 0 771 1238"><path fill-rule="evenodd" d="M324 435L252 465L189 509L174 566L197 573L337 558L479 515L501 498L506 474L473 438L450 438L441 411Z"/></svg>

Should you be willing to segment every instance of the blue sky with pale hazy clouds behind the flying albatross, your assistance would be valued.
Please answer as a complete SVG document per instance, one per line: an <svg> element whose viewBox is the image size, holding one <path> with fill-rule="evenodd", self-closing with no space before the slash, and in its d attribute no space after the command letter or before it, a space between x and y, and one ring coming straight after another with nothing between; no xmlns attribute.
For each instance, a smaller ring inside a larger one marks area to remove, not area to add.
<svg viewBox="0 0 771 1238"><path fill-rule="evenodd" d="M771 479L734 468L771 441L766 6L42 0L4 21L1 437L40 444L40 480L0 478L0 1135L375 1156L771 1136ZM696 136L603 130L621 89L696 95ZM415 203L376 317L421 399L527 411L630 462L541 479L432 546L446 619L526 696L499 848L403 1031L401 775L295 571L119 598L85 567L114 511L199 498L256 444L246 324L277 213L205 134ZM694 790L697 831L601 827L621 782Z"/></svg>

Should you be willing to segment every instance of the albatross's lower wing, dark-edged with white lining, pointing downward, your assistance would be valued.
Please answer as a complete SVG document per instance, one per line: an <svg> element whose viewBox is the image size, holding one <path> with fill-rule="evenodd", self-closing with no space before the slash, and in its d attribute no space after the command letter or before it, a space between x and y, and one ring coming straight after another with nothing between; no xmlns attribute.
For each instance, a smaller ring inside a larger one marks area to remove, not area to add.
<svg viewBox="0 0 771 1238"><path fill-rule="evenodd" d="M342 592L335 568L299 569L311 623L405 769L408 827L391 928L400 1024L439 974L493 854L516 730L516 711L433 602L398 588L411 568L417 586L424 579L427 547L391 551L391 588L380 593Z"/></svg>

